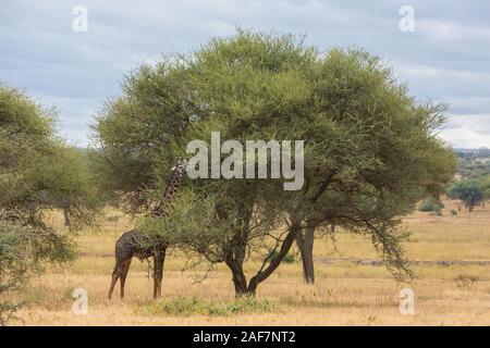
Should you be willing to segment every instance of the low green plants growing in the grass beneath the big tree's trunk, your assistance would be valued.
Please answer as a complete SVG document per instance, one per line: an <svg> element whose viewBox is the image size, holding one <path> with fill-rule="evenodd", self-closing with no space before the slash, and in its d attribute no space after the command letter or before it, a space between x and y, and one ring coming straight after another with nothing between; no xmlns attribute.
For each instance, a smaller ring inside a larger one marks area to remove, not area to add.
<svg viewBox="0 0 490 348"><path fill-rule="evenodd" d="M253 297L242 298L223 302L215 300L203 300L197 297L186 298L179 296L172 300L162 300L147 304L143 312L146 315L211 315L229 316L236 314L267 313L275 311L273 302L268 300L256 300Z"/></svg>

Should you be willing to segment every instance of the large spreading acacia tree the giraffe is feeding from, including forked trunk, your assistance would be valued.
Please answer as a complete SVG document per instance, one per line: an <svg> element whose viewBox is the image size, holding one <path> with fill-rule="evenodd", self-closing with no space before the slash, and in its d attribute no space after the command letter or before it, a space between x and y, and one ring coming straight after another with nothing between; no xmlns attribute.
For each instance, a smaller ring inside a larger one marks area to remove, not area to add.
<svg viewBox="0 0 490 348"><path fill-rule="evenodd" d="M301 234L331 224L370 236L396 277L409 274L400 216L425 189L442 185L454 159L433 134L443 109L417 102L377 57L323 55L291 35L238 30L189 57L145 65L123 87L96 129L101 161L113 169L130 163L108 182L136 207L161 189L162 173L174 164L167 159L188 156L189 140L209 145L211 132L242 144L305 140L302 189L285 191L283 175L187 179L171 219L148 217L140 226L225 263L237 296L255 294ZM270 248L274 257L247 277L248 257Z"/></svg>

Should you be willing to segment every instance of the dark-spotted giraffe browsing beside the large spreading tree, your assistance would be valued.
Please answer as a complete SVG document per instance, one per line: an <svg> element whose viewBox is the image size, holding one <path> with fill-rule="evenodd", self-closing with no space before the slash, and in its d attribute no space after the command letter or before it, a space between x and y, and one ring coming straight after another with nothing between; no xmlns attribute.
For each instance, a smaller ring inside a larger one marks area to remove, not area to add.
<svg viewBox="0 0 490 348"><path fill-rule="evenodd" d="M151 213L154 216L168 216L167 210L177 190L186 166L187 160L179 159L177 165L172 169L173 174L163 194L163 198ZM157 240L151 240L149 236L137 229L127 231L122 234L115 243L115 266L112 272L112 282L108 295L109 299L112 297L112 291L118 279L121 283L121 299L124 298L124 284L133 257L139 260L146 260L150 257L154 258L154 298L159 298L161 296L161 281L163 277L167 247L168 243L164 239L157 237Z"/></svg>

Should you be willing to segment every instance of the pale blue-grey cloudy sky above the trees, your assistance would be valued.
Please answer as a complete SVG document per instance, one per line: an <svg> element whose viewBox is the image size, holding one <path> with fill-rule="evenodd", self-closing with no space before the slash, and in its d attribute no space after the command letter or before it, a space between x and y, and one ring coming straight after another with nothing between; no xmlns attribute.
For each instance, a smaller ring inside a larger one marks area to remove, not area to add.
<svg viewBox="0 0 490 348"><path fill-rule="evenodd" d="M2 0L0 83L56 107L62 136L87 146L94 116L142 62L236 27L277 30L380 55L418 100L449 104L441 138L490 148L489 15L489 1Z"/></svg>

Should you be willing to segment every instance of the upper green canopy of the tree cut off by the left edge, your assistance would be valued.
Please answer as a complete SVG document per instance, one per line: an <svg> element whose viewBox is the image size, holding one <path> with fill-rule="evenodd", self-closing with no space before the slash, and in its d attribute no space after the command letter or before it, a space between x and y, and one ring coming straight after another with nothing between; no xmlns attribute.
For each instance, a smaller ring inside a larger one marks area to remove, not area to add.
<svg viewBox="0 0 490 348"><path fill-rule="evenodd" d="M93 224L103 201L88 158L56 136L56 111L0 86L0 207L39 224L60 209L73 227Z"/></svg>

